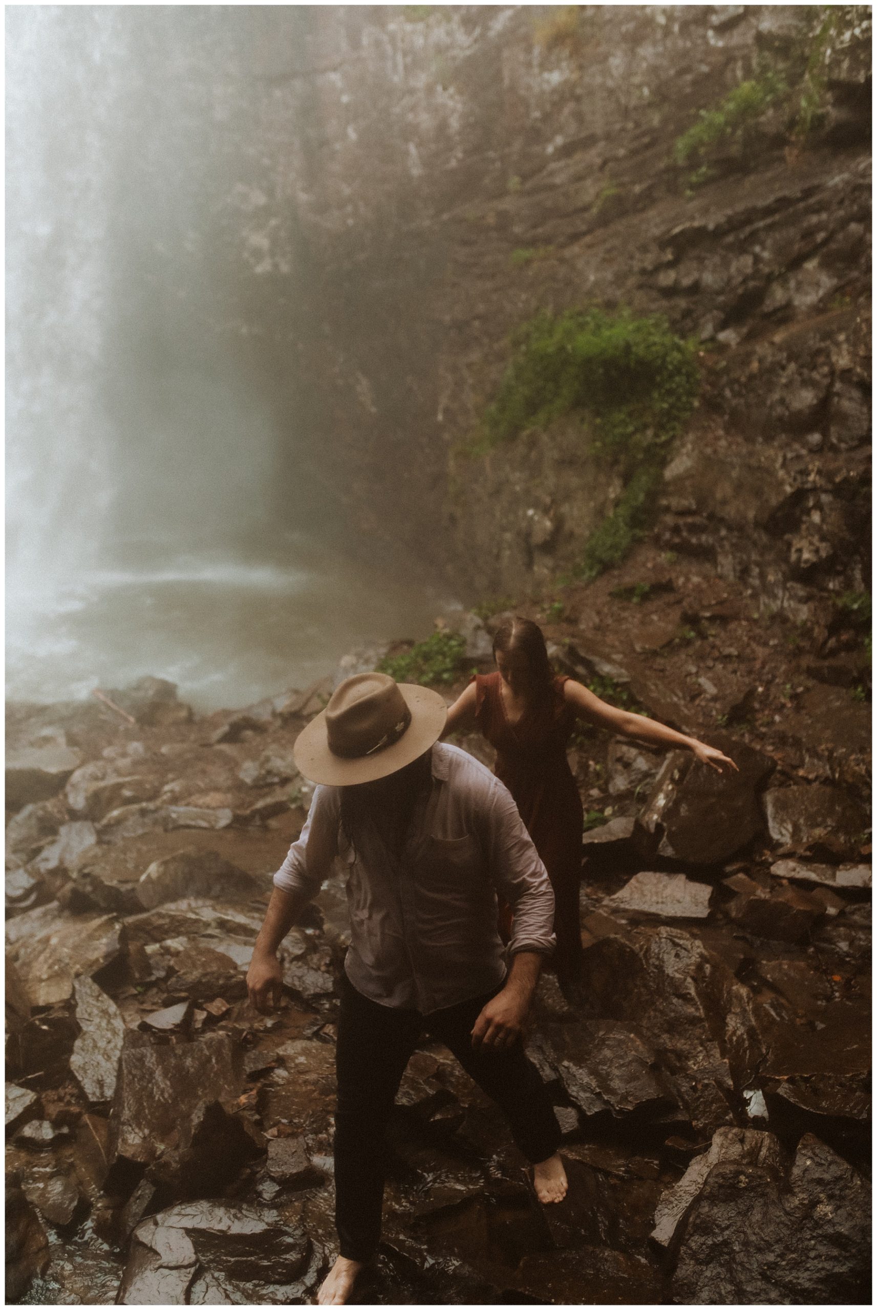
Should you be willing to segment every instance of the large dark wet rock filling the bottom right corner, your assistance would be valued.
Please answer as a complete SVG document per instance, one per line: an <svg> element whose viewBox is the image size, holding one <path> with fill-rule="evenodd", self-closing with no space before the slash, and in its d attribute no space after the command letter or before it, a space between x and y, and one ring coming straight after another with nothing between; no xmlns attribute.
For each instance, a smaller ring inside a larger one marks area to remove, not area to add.
<svg viewBox="0 0 877 1310"><path fill-rule="evenodd" d="M788 1176L714 1165L688 1213L672 1297L686 1305L844 1305L869 1300L868 1186L806 1134Z"/></svg>

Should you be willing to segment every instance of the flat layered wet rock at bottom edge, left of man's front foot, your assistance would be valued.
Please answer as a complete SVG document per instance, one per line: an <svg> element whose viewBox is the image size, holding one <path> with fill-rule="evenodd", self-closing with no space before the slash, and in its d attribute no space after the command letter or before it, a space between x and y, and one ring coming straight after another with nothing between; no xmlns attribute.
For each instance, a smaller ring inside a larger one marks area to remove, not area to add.
<svg viewBox="0 0 877 1310"><path fill-rule="evenodd" d="M322 1271L304 1233L245 1207L174 1205L134 1230L119 1305L283 1305Z"/></svg>

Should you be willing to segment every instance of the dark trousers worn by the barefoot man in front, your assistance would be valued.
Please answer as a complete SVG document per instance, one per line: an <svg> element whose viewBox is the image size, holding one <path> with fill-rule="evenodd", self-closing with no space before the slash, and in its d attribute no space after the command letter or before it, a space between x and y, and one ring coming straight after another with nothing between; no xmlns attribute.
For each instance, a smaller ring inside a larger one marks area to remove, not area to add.
<svg viewBox="0 0 877 1310"><path fill-rule="evenodd" d="M342 977L336 1111L336 1227L340 1254L368 1260L380 1238L384 1132L396 1093L423 1031L443 1041L506 1114L515 1145L537 1165L555 1154L560 1128L541 1078L519 1041L506 1051L472 1049L472 1027L496 993L423 1017L368 1001Z"/></svg>

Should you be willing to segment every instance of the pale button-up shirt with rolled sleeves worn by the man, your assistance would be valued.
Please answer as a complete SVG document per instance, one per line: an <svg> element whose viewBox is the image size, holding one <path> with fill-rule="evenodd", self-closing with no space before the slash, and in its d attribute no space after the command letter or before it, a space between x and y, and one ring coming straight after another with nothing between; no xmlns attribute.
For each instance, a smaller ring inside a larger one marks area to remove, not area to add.
<svg viewBox="0 0 877 1310"><path fill-rule="evenodd" d="M347 977L380 1005L429 1014L501 985L506 954L555 947L555 896L518 807L489 769L458 747L437 743L433 781L418 799L399 858L374 824L350 845L340 823L341 789L319 786L302 836L274 874L281 891L316 896L308 870L315 824L336 834L347 869ZM503 947L497 893L511 905Z"/></svg>

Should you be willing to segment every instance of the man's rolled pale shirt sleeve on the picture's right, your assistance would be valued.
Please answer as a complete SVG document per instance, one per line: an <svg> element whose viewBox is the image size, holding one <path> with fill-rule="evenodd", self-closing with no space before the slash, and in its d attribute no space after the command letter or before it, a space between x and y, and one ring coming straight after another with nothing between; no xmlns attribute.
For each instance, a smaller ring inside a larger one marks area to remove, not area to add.
<svg viewBox="0 0 877 1310"><path fill-rule="evenodd" d="M518 807L501 782L488 810L486 844L494 887L514 914L509 954L551 955L557 945L555 893Z"/></svg>

